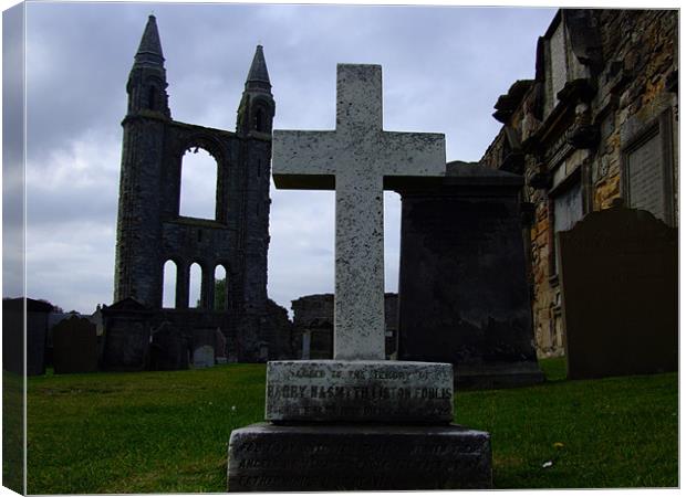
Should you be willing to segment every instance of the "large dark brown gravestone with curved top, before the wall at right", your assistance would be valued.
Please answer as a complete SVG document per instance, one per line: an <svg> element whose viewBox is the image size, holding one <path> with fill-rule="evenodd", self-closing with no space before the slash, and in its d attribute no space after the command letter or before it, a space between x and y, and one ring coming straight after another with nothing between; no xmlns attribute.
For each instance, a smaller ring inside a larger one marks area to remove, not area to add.
<svg viewBox="0 0 686 497"><path fill-rule="evenodd" d="M614 207L559 244L568 378L677 371L677 230Z"/></svg>

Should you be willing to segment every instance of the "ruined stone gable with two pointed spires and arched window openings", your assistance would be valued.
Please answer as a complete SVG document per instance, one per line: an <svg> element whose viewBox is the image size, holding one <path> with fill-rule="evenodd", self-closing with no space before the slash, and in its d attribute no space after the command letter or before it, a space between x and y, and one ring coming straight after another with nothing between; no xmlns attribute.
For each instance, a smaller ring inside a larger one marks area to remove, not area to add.
<svg viewBox="0 0 686 497"><path fill-rule="evenodd" d="M126 85L114 302L133 298L168 314L170 309L163 309L164 266L172 261L176 266L174 310L220 315L212 322L204 321L205 326L221 321L218 327L225 335L246 337L239 355L258 353L254 350L264 347L259 322L267 306L276 109L262 46L258 45L248 73L235 133L174 120L164 62L157 23L150 15ZM217 162L214 219L179 212L184 155L198 149ZM199 310L193 308L195 302L189 303L194 263L202 275ZM227 298L216 308L218 266L226 269Z"/></svg>

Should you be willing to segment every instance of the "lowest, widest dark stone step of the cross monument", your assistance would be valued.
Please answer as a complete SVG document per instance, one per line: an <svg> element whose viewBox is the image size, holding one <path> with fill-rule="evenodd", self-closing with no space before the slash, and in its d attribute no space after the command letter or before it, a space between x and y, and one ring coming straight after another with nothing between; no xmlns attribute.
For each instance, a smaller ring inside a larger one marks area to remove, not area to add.
<svg viewBox="0 0 686 497"><path fill-rule="evenodd" d="M490 435L458 425L259 423L229 442L229 491L491 487Z"/></svg>

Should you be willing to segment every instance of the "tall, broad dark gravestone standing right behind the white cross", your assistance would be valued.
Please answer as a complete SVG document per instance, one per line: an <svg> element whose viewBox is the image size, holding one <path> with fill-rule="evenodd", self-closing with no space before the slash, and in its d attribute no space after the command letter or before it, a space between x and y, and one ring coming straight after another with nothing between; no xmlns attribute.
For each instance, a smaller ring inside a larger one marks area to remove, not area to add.
<svg viewBox="0 0 686 497"><path fill-rule="evenodd" d="M401 190L401 360L450 362L460 387L543 381L533 347L521 176L450 162Z"/></svg>

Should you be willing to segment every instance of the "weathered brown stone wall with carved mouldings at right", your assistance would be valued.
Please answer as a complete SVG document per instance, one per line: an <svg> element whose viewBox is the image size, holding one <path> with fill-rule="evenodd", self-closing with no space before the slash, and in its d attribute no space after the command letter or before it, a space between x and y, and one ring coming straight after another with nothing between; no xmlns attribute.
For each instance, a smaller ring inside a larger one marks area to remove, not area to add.
<svg viewBox="0 0 686 497"><path fill-rule="evenodd" d="M523 175L538 353L563 353L555 233L613 203L678 225L678 12L562 9L480 163Z"/></svg>

